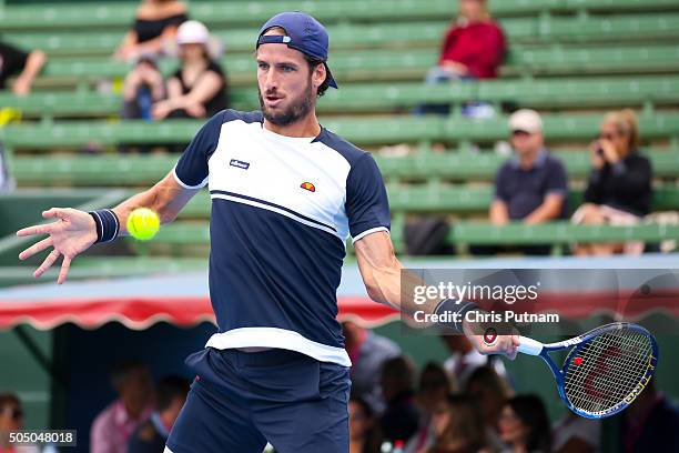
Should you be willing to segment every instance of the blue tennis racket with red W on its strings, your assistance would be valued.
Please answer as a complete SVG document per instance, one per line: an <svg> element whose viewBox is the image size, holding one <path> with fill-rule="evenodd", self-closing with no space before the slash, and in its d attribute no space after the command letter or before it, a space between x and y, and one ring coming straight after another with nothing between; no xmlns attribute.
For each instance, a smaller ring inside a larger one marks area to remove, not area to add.
<svg viewBox="0 0 679 453"><path fill-rule="evenodd" d="M543 344L520 336L518 351L538 355L551 370L559 396L576 414L604 419L625 410L643 391L658 365L658 344L637 324L616 322L580 336ZM550 352L571 348L561 369Z"/></svg>

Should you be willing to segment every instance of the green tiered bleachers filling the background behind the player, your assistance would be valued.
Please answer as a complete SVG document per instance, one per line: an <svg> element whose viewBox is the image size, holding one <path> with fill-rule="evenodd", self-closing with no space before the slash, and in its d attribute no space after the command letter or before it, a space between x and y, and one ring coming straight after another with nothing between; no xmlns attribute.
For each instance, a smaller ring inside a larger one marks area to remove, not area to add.
<svg viewBox="0 0 679 453"><path fill-rule="evenodd" d="M116 144L181 143L200 128L200 121L118 118L120 82L130 68L111 54L134 8L134 2L92 2L0 9L3 40L43 49L50 57L30 95L0 94L0 108L11 109L18 118L0 129L17 180L17 190L1 197L6 205L37 189L59 190L61 201L82 205L82 194L93 193L92 188L107 188L113 195L102 198L97 192L89 200L110 205L158 181L178 159L119 154ZM330 66L341 84L320 99L321 122L376 153L387 181L397 251L406 252L405 219L423 213L455 219L448 238L455 244L549 242L564 252L574 241L679 239L679 226L653 223L493 226L484 220L493 175L506 159L494 148L507 140L507 114L518 107L544 114L547 143L568 170L571 209L581 200L589 171L587 144L598 133L602 113L634 108L642 150L653 164L653 210L679 208L679 2L491 1L494 17L509 40L500 78L432 87L423 80L436 63L440 39L455 16L454 1L191 1L191 17L204 21L225 44L221 64L229 76L233 108L259 105L252 57L259 26L275 12L300 8L327 26ZM175 67L172 61L162 63L164 73ZM460 115L459 105L468 101L493 104L496 115L487 120ZM414 107L425 102L450 104L453 113L413 115ZM99 149L95 154L82 152L93 145ZM405 145L411 152L379 153L389 145ZM36 207L36 212L41 208ZM209 199L201 194L176 222L161 230L152 245L131 250L146 256L203 255L209 213ZM16 241L0 242L0 256L19 248ZM9 262L2 259L3 264ZM77 265L88 262L100 261L83 256Z"/></svg>

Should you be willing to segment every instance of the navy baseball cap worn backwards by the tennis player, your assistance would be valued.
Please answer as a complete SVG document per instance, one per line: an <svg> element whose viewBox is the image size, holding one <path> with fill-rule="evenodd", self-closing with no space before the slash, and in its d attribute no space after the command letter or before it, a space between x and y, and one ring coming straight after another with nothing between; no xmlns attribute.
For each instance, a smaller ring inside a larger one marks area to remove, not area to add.
<svg viewBox="0 0 679 453"><path fill-rule="evenodd" d="M285 30L285 36L262 36L266 30L280 27ZM298 50L316 60L325 63L327 72L327 82L331 87L337 88L337 82L333 79L333 74L327 67L327 47L328 38L325 27L316 19L304 12L281 12L268 19L260 29L257 38L257 48L260 44L281 43L287 44L288 48Z"/></svg>

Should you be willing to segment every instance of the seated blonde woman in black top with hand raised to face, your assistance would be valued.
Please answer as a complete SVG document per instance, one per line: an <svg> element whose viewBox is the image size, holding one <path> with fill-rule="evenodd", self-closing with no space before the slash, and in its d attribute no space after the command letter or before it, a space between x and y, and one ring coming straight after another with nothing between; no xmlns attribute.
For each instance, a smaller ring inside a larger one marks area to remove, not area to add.
<svg viewBox="0 0 679 453"><path fill-rule="evenodd" d="M589 147L591 172L585 204L572 214L575 223L632 225L650 212L651 164L639 153L639 127L632 110L604 117L599 139ZM579 255L640 254L642 242L578 244Z"/></svg>

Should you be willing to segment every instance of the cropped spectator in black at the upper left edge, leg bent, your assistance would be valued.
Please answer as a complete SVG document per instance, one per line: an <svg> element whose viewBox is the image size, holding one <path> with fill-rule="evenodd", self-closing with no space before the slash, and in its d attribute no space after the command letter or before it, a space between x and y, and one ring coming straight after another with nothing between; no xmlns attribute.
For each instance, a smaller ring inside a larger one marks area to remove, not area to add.
<svg viewBox="0 0 679 453"><path fill-rule="evenodd" d="M30 93L33 80L36 80L45 61L47 54L41 50L32 50L26 53L13 46L0 42L0 90L4 90L7 80L17 74L12 92L17 95Z"/></svg>

